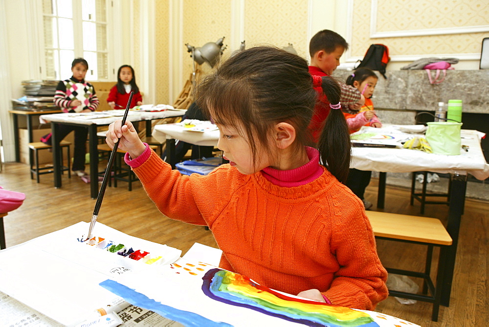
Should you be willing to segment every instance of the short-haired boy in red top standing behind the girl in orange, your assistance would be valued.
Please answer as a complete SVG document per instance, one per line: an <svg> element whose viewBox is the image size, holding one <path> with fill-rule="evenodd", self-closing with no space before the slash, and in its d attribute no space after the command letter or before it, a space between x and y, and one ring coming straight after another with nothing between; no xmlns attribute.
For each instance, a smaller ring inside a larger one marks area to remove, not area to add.
<svg viewBox="0 0 489 327"><path fill-rule="evenodd" d="M338 33L329 29L317 32L309 43L311 55L309 73L317 76L330 76L339 66L339 59L346 50L348 50L348 43ZM341 87L340 102L342 105L349 105L358 110L365 104L365 97L356 88L339 81L338 84ZM314 90L318 93L319 101L314 107L309 129L314 142L317 142L323 123L330 113L330 102L321 88L314 88Z"/></svg>

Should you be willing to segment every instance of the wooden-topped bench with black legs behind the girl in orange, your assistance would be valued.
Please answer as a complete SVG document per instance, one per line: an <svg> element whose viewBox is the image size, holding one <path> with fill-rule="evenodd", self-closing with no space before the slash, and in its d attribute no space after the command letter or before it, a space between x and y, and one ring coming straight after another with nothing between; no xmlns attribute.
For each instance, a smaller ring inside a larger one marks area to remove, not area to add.
<svg viewBox="0 0 489 327"><path fill-rule="evenodd" d="M433 303L431 319L438 321L438 311L441 303L442 280L444 263L447 256L447 247L452 244L452 238L446 231L442 222L436 218L410 216L379 211L366 211L374 235L378 239L398 242L408 242L426 245L426 261L424 272L385 268L388 273L417 277L423 279L422 294L407 293L389 290L389 295L405 299L419 300ZM440 257L436 274L436 285L430 277L433 247L440 247ZM430 295L428 295L428 290Z"/></svg>

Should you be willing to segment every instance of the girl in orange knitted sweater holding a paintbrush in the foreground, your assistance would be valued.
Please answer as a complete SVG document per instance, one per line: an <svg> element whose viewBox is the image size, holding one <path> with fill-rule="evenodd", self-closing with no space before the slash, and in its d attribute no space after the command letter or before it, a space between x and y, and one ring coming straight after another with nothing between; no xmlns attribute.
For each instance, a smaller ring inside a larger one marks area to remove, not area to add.
<svg viewBox="0 0 489 327"><path fill-rule="evenodd" d="M332 103L319 151L308 124L323 87ZM198 86L196 100L219 126L228 164L207 176L181 175L142 143L131 122L109 127L120 138L158 209L208 226L220 267L311 300L371 310L388 295L361 201L341 182L350 162L340 88L312 76L303 58L253 47L224 62ZM328 163L328 166L320 164Z"/></svg>

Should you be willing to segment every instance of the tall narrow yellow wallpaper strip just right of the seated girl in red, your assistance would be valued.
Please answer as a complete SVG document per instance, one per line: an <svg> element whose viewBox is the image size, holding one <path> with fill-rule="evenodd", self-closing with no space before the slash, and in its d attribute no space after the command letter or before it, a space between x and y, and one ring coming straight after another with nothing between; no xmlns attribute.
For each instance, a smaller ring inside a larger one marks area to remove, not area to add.
<svg viewBox="0 0 489 327"><path fill-rule="evenodd" d="M169 103L168 87L168 43L170 26L168 22L169 5L167 0L155 2L155 71L156 94L155 103Z"/></svg>

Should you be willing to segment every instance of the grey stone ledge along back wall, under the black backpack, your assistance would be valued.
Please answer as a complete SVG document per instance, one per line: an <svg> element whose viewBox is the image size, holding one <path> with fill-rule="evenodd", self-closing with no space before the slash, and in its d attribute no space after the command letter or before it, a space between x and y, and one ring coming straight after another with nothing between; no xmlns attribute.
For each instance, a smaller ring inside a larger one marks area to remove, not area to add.
<svg viewBox="0 0 489 327"><path fill-rule="evenodd" d="M333 77L344 82L351 73L335 70ZM489 114L489 70L447 70L445 80L434 85L425 70L387 70L387 79L376 73L376 109L434 111L440 101L462 99L464 113Z"/></svg>

